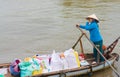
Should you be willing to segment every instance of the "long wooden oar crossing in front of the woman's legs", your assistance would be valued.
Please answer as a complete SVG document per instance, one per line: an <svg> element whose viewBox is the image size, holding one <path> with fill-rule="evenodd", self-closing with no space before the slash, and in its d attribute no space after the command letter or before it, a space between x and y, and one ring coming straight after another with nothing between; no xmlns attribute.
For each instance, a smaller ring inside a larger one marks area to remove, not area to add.
<svg viewBox="0 0 120 77"><path fill-rule="evenodd" d="M100 52L100 50L94 45L94 43L88 38L88 36L86 35L86 33L83 32L83 30L80 27L77 27L87 38L87 40L91 43L91 45L93 47L95 47L95 49L98 51L98 53L104 58L104 60L107 62L107 64L110 65L110 67L112 68L112 70L116 73L116 75L118 77L120 77L120 73L108 62L108 60L104 57L104 55Z"/></svg>

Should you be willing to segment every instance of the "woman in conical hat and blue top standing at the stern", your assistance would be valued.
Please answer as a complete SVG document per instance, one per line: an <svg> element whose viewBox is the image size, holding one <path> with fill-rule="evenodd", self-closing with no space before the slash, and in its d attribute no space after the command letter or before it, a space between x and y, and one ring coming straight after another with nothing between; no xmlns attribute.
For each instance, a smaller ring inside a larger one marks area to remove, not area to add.
<svg viewBox="0 0 120 77"><path fill-rule="evenodd" d="M92 14L86 18L88 22L86 22L86 25L76 25L77 27L80 27L82 29L88 30L90 33L90 40L95 44L95 46L100 50L102 54L104 54L104 51L102 50L103 45L103 39L99 31L99 19L96 17L95 14ZM98 51L93 48L93 53L95 57L95 61L104 61L104 58L102 56L99 56Z"/></svg>

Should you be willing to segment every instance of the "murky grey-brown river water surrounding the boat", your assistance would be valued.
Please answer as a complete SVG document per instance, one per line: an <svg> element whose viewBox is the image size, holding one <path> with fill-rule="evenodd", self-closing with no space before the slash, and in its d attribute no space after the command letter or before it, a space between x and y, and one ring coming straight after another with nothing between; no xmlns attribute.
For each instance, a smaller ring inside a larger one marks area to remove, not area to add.
<svg viewBox="0 0 120 77"><path fill-rule="evenodd" d="M120 0L0 0L0 63L71 48L81 34L75 24L84 24L85 17L93 13L100 19L108 46L120 36L119 12ZM83 41L85 51L92 52L88 41ZM120 43L114 52L120 54ZM106 69L92 77L116 75Z"/></svg>

